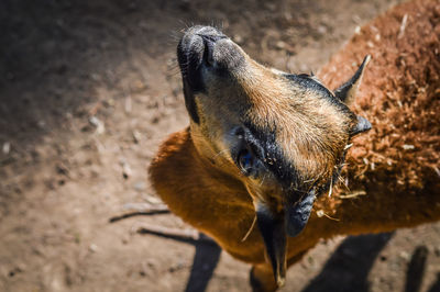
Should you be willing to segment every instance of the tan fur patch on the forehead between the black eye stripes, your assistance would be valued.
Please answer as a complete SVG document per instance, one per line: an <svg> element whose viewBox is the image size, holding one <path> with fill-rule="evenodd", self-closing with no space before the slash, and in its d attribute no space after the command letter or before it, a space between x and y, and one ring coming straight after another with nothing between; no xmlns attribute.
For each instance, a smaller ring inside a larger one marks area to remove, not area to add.
<svg viewBox="0 0 440 292"><path fill-rule="evenodd" d="M252 59L235 77L251 104L246 116L260 128L276 133L285 157L305 179L328 179L348 142L349 116L315 90Z"/></svg>

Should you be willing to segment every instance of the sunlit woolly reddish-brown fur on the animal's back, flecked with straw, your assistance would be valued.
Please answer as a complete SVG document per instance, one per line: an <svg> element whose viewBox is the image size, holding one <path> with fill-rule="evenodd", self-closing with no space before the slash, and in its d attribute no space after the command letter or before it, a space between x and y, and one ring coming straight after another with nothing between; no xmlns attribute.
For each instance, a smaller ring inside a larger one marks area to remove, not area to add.
<svg viewBox="0 0 440 292"><path fill-rule="evenodd" d="M400 33L405 15L407 23ZM365 53L373 58L354 104L355 112L366 116L373 130L354 141L349 160L351 176L361 176L366 182L382 181L392 173L388 189L413 194L432 179L438 180L439 43L440 3L414 1L362 27L321 69L319 75L333 88L350 76L351 65ZM404 145L415 148L406 150Z"/></svg>

